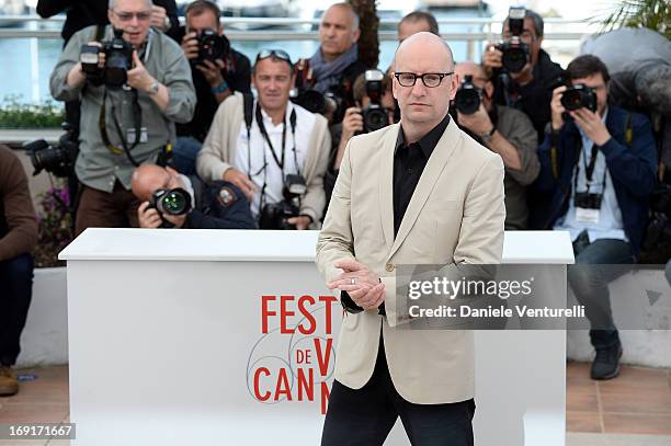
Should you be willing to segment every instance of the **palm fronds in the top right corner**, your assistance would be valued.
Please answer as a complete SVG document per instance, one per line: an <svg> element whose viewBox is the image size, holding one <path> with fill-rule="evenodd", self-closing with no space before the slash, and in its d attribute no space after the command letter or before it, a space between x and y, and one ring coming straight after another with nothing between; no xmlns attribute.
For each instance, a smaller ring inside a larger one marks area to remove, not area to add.
<svg viewBox="0 0 671 446"><path fill-rule="evenodd" d="M605 31L618 27L647 27L671 38L671 2L669 0L619 0L604 20Z"/></svg>

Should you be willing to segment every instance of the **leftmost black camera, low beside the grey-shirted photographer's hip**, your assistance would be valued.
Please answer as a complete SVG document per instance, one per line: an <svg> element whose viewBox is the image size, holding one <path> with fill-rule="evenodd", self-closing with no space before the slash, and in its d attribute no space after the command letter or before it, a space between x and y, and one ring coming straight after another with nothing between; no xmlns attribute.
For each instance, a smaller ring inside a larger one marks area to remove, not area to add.
<svg viewBox="0 0 671 446"><path fill-rule="evenodd" d="M62 129L66 133L60 136L56 146L49 146L44 139L37 139L25 145L25 149L31 156L31 163L34 169L33 175L37 175L43 170L61 178L75 174L79 141L69 123L64 123Z"/></svg>

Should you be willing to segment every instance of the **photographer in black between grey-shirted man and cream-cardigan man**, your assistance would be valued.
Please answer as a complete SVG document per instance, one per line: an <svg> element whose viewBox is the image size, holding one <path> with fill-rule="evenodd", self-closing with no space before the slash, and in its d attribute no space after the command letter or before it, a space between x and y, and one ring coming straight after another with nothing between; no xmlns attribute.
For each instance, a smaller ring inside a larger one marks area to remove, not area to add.
<svg viewBox="0 0 671 446"><path fill-rule="evenodd" d="M185 14L186 28L180 28L182 50L191 62L197 102L193 119L177 126L174 165L191 174L219 103L236 91L251 93L251 65L230 47L219 22L220 10L214 2L194 1Z"/></svg>

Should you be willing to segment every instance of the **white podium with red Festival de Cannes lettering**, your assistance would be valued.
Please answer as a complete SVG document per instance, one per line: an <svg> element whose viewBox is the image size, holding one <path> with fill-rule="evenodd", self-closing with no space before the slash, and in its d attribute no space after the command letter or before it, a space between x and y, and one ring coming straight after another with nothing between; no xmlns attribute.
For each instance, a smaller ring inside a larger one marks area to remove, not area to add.
<svg viewBox="0 0 671 446"><path fill-rule="evenodd" d="M72 445L318 445L340 304L316 231L88 229L68 261ZM572 263L566 232L504 262ZM566 333L476 334L479 446L565 445ZM407 445L397 423L386 445Z"/></svg>

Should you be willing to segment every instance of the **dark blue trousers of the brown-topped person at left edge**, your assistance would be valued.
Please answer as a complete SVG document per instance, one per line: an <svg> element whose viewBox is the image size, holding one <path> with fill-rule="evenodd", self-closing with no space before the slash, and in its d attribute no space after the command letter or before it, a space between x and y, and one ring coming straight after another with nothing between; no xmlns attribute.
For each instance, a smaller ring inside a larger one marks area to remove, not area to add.
<svg viewBox="0 0 671 446"><path fill-rule="evenodd" d="M14 365L33 296L33 256L0 262L0 364Z"/></svg>

